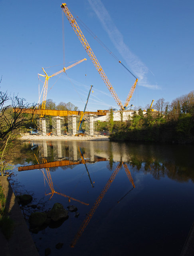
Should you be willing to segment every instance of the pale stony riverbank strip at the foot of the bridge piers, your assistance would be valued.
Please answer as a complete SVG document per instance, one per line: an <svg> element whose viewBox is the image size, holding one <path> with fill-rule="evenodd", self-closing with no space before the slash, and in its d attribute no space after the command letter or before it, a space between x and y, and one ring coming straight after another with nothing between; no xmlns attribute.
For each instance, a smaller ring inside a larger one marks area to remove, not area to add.
<svg viewBox="0 0 194 256"><path fill-rule="evenodd" d="M20 140L109 140L109 136L94 135L94 136L41 136L21 134Z"/></svg>

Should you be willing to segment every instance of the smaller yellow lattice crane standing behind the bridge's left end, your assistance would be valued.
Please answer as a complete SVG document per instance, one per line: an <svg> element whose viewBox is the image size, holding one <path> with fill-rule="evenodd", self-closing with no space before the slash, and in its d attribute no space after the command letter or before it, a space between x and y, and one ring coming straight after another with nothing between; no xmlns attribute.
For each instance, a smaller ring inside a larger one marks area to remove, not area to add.
<svg viewBox="0 0 194 256"><path fill-rule="evenodd" d="M51 76L48 76L48 74L45 72L44 68L42 68L42 70L44 71L45 75L41 75L41 74L38 74L39 76L43 76L45 77L45 82L44 82L44 92L43 92L43 99L42 99L42 107L41 109L45 109L45 106L46 106L46 97L47 97L47 90L48 90L48 80L49 78L53 77L53 76L56 76L62 72L65 72L67 69L69 68L72 68L74 66L76 66L77 64L83 62L84 60L86 60L86 58L84 58L83 60L79 60L78 62L68 66L67 68L63 68L62 70L56 72L55 74L51 75Z"/></svg>

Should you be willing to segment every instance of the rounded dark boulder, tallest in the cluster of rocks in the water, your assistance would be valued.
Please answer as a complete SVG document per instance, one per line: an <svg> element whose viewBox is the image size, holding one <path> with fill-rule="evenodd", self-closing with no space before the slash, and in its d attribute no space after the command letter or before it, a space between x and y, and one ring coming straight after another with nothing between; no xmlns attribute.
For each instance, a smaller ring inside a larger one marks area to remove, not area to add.
<svg viewBox="0 0 194 256"><path fill-rule="evenodd" d="M58 221L68 217L68 211L60 203L55 203L53 208L47 213L47 216L53 221Z"/></svg>

